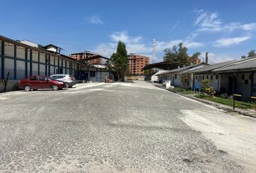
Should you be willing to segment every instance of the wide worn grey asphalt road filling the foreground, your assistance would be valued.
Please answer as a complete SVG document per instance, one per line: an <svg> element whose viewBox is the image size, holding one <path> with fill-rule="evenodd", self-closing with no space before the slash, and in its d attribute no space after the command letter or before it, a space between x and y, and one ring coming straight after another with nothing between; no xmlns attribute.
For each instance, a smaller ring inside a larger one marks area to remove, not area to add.
<svg viewBox="0 0 256 173"><path fill-rule="evenodd" d="M141 81L0 94L0 172L256 172L255 134Z"/></svg>

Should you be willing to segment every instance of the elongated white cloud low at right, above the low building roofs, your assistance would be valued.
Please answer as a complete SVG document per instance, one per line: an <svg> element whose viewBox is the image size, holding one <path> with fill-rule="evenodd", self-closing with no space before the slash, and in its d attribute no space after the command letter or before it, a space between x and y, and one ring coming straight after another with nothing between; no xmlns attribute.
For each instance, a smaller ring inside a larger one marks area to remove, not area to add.
<svg viewBox="0 0 256 173"><path fill-rule="evenodd" d="M227 47L229 45L238 45L239 43L242 43L246 40L249 40L250 37L227 37L227 38L221 38L220 40L216 40L213 43L213 46L215 47Z"/></svg>

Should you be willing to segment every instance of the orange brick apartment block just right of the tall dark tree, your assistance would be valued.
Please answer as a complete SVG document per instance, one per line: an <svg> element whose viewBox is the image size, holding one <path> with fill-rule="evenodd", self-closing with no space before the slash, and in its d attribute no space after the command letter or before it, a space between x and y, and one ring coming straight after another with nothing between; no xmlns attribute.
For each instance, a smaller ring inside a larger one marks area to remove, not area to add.
<svg viewBox="0 0 256 173"><path fill-rule="evenodd" d="M149 64L149 57L131 53L128 56L129 73L140 75L143 74L142 68Z"/></svg>

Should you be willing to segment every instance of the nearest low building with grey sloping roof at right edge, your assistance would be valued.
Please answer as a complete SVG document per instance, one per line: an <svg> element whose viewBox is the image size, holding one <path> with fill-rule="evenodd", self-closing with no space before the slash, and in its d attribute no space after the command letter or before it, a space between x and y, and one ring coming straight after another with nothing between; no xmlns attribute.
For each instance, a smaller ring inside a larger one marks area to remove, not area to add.
<svg viewBox="0 0 256 173"><path fill-rule="evenodd" d="M256 95L256 57L225 61L191 71L193 87L210 80L219 94L241 94L243 97Z"/></svg>

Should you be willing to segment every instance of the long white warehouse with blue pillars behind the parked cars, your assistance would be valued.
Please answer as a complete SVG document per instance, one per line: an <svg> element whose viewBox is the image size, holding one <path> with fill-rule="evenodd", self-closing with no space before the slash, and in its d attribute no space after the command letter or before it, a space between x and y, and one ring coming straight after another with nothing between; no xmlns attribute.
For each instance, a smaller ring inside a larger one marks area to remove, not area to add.
<svg viewBox="0 0 256 173"><path fill-rule="evenodd" d="M14 90L17 89L20 79L32 75L71 74L80 80L82 69L86 69L85 71L91 74L88 80L103 81L104 76L110 74L106 68L88 68L88 64L61 54L61 48L56 45L43 46L27 40L12 40L1 35L0 60L0 92L3 92L7 76L7 90Z"/></svg>

